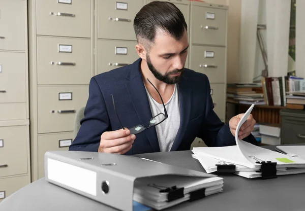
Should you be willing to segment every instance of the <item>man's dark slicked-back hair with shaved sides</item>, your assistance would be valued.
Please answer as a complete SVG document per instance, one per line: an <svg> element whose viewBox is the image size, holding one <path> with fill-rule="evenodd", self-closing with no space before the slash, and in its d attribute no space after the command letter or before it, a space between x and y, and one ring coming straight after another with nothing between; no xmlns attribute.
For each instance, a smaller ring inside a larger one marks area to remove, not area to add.
<svg viewBox="0 0 305 211"><path fill-rule="evenodd" d="M181 11L174 4L154 1L142 7L137 13L134 29L138 43L154 43L157 29L180 40L188 26Z"/></svg>

